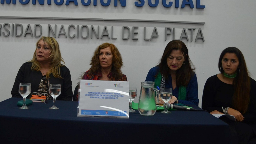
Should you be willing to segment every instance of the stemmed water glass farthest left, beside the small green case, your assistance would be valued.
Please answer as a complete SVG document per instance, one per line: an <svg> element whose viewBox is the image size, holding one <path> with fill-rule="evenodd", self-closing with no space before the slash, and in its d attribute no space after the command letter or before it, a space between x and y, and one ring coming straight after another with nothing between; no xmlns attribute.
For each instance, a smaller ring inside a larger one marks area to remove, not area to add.
<svg viewBox="0 0 256 144"><path fill-rule="evenodd" d="M23 97L23 105L20 109L29 109L26 106L26 97L31 93L31 84L30 83L20 83L19 93Z"/></svg>

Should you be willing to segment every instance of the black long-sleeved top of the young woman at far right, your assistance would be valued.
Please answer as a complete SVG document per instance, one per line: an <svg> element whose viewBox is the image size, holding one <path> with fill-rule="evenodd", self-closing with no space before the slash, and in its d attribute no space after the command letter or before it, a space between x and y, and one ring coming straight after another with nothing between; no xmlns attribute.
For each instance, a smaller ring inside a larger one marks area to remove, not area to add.
<svg viewBox="0 0 256 144"><path fill-rule="evenodd" d="M250 103L248 111L243 114L244 122L254 123L256 121L256 82L252 78L251 91L250 91ZM209 112L217 110L223 112L223 108L233 107L232 97L234 94L234 86L232 84L226 84L222 82L217 75L211 76L207 79L204 85L202 109Z"/></svg>

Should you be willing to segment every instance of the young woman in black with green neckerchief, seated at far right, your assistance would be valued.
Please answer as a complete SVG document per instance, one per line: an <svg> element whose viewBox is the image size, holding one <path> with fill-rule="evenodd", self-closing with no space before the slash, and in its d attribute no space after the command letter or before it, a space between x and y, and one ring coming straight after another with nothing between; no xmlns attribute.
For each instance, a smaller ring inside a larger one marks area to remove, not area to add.
<svg viewBox="0 0 256 144"><path fill-rule="evenodd" d="M224 49L218 66L221 73L205 83L202 109L235 116L236 121L222 119L231 128L234 143L255 140L256 82L249 77L242 52L236 47Z"/></svg>

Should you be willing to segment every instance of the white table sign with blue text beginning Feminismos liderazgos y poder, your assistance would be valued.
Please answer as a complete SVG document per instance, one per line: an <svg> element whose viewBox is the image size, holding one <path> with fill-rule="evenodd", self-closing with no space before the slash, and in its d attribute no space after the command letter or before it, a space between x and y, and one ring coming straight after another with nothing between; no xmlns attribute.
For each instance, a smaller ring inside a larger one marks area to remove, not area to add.
<svg viewBox="0 0 256 144"><path fill-rule="evenodd" d="M129 118L129 82L80 80L77 116Z"/></svg>

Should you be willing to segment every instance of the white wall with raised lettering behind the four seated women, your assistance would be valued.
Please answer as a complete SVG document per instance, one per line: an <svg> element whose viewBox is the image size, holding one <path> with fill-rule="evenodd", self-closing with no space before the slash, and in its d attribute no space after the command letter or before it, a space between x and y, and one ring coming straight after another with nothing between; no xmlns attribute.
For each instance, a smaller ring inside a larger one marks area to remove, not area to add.
<svg viewBox="0 0 256 144"><path fill-rule="evenodd" d="M120 50L124 67L123 73L127 76L130 85L136 86L140 90L140 82L144 81L150 68L157 65L162 56L163 50L167 43L172 40L172 35L168 36L167 41L164 39L164 28L175 27L175 39L179 39L182 28L196 28L193 33L193 41L182 41L189 49L189 56L196 68L198 79L198 96L199 106L201 106L202 92L205 81L208 77L219 73L218 58L223 49L235 46L239 48L246 59L251 77L256 79L255 67L255 32L256 32L256 1L255 0L201 0L201 5L205 5L205 9L191 9L189 6L185 8L165 8L160 4L155 7L149 7L147 0L143 7L134 5L136 0L127 0L126 7L121 7L118 3L114 7L114 2L110 6L103 7L98 0L97 6L83 6L78 1L78 6L68 6L65 4L57 6L51 5L22 5L17 1L13 4L0 4L0 24L4 23L20 23L24 26L23 34L27 24L31 24L32 30L34 24L41 24L43 27L43 35L47 36L47 25L57 24L57 33L63 24L67 28L70 24L82 26L84 24L89 27L93 25L97 28L100 25L100 35L103 27L108 27L111 33L111 26L114 27L114 36L116 40L103 37L82 39L65 38L61 35L56 40L61 47L62 57L66 62L66 66L70 69L72 78L72 88L78 82L77 78L81 72L90 68L90 60L95 48L104 42L110 42L117 46ZM168 0L167 0L168 1ZM170 0L173 1L174 0ZM196 6L196 0L193 0ZM181 1L180 1L181 6ZM20 16L20 17L68 17L68 18L107 18L107 19L143 19L143 20L167 20L167 21L191 21L205 22L202 24L180 24L180 23L160 23L160 22L119 22L119 21L95 21L95 20L45 20L45 19L16 19L3 18L3 16ZM138 26L139 34L135 37L139 40L122 40L122 26ZM157 27L159 37L153 38L151 41L143 39L144 26L147 27L147 35L151 36L154 27ZM201 39L195 42L195 37L201 28L205 38L205 42ZM3 28L1 29L4 32ZM74 31L71 31L74 33ZM190 31L187 31L190 40ZM52 35L50 35L52 36ZM11 89L20 66L30 60L35 50L35 43L39 38L31 37L15 37L0 36L0 101L11 97ZM138 92L139 93L139 92Z"/></svg>

